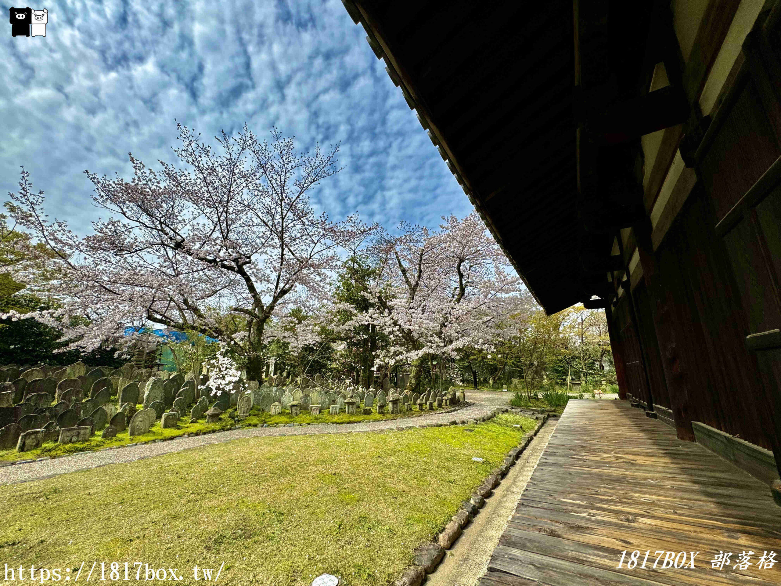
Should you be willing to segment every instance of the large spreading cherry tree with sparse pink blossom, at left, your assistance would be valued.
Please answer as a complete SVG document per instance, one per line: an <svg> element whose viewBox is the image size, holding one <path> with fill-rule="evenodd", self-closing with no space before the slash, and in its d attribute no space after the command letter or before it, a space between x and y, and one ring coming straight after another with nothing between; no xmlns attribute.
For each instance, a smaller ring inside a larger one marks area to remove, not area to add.
<svg viewBox="0 0 781 586"><path fill-rule="evenodd" d="M245 125L212 149L177 127L180 167L159 161L155 171L130 154L130 181L85 171L108 218L84 238L49 219L43 191L22 171L9 194L14 219L63 269L46 291L59 309L23 317L56 324L69 348L84 350L116 342L131 324L195 331L228 344L261 379L269 321L301 296L326 296L342 249L376 226L357 215L333 222L309 203L308 192L339 172L338 145L299 153L278 130L259 141ZM243 327L224 327L226 312L243 316Z"/></svg>

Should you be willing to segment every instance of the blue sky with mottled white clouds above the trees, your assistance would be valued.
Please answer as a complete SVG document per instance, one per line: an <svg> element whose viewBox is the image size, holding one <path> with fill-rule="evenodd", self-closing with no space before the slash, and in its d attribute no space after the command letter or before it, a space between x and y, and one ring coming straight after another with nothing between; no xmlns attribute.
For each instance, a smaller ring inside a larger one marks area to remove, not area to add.
<svg viewBox="0 0 781 586"><path fill-rule="evenodd" d="M209 138L246 121L299 148L341 142L346 168L312 192L333 219L434 227L472 209L340 0L30 8L48 9L45 38L12 38L7 16L0 34L0 190L24 165L82 234L98 217L83 171L129 179L127 152L173 163L174 119Z"/></svg>

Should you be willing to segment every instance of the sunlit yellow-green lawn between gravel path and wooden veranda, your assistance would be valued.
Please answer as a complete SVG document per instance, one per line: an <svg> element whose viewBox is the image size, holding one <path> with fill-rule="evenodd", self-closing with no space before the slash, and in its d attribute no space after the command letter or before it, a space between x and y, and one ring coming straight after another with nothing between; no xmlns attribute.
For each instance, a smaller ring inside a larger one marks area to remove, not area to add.
<svg viewBox="0 0 781 586"><path fill-rule="evenodd" d="M388 584L536 423L248 438L4 486L2 562L97 560L107 578L112 561L143 562L184 584L224 562L224 584Z"/></svg>

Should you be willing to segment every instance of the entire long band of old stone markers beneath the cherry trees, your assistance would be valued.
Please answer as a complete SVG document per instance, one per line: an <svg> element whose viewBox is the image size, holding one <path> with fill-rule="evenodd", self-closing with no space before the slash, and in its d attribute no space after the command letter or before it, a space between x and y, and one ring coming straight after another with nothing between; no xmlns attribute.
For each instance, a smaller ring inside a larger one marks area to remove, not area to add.
<svg viewBox="0 0 781 586"><path fill-rule="evenodd" d="M286 374L270 379L279 384L287 381ZM162 429L177 427L183 419L195 423L205 418L206 423L216 423L232 408L239 418L253 408L273 415L283 410L291 416L302 410L314 415L368 415L440 409L457 402L453 388L426 389L423 394L396 388L377 391L333 384L319 375L314 381L302 378L287 387L240 380L230 393L216 395L205 375L183 376L131 364L119 369L89 368L80 362L27 369L8 365L0 367L0 449L16 447L17 452L26 452L48 441L87 441L98 431L102 438L112 438L127 429L132 437L148 433L156 421Z"/></svg>

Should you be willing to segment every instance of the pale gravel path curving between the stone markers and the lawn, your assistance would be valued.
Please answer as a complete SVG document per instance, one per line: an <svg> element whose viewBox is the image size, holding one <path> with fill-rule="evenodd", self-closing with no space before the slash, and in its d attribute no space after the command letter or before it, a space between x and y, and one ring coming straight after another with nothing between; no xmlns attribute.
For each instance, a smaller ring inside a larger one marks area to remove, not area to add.
<svg viewBox="0 0 781 586"><path fill-rule="evenodd" d="M348 434L355 431L401 430L411 427L421 427L431 423L449 423L453 420L468 420L483 415L500 406L508 404L507 393L491 391L467 391L466 400L473 405L458 409L453 413L431 413L411 419L367 421L362 423L319 424L305 427L248 427L216 434L206 434L179 437L171 441L156 441L143 445L133 445L124 448L105 449L98 452L87 452L78 456L67 456L4 466L0 468L0 484L16 484L41 480L65 474L89 470L98 466L107 466L134 460L152 458L161 454L180 452L189 448L199 448L204 445L219 444L240 438L266 438L277 435L309 435L309 434Z"/></svg>

